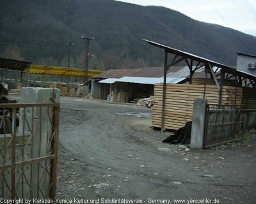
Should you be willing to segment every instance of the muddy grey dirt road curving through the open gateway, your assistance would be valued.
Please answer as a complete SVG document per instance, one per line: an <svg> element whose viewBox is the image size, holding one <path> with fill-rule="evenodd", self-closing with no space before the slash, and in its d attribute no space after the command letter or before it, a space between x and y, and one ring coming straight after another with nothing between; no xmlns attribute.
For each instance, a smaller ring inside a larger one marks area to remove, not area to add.
<svg viewBox="0 0 256 204"><path fill-rule="evenodd" d="M170 133L152 130L151 114L134 105L61 98L57 197L256 202L255 139L185 151L161 143Z"/></svg>

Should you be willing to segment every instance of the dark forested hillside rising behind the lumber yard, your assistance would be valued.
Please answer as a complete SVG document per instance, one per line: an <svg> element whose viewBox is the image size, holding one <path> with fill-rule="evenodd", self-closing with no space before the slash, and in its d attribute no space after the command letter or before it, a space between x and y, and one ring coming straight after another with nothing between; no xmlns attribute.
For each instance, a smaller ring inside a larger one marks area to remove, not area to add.
<svg viewBox="0 0 256 204"><path fill-rule="evenodd" d="M72 41L71 66L83 68L81 36L94 38L90 69L163 65L163 50L141 38L228 65L236 64L236 52L256 55L255 36L163 7L113 0L5 0L0 6L0 57L67 66Z"/></svg>

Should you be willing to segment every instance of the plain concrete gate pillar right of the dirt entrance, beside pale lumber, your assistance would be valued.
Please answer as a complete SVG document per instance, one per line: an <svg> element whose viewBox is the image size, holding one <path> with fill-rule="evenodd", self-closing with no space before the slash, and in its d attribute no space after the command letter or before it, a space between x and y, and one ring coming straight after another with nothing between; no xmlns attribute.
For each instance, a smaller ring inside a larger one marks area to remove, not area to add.
<svg viewBox="0 0 256 204"><path fill-rule="evenodd" d="M206 105L207 105L207 99L196 98L194 101L191 140L190 140L190 147L193 149L204 148Z"/></svg>

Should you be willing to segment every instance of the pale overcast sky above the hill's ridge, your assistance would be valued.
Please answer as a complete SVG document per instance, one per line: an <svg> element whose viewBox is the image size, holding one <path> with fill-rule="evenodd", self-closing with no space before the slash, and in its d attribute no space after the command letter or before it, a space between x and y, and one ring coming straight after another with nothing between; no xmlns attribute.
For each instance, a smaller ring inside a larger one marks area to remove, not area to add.
<svg viewBox="0 0 256 204"><path fill-rule="evenodd" d="M180 11L212 24L256 36L256 0L118 0L143 6L155 5ZM220 15L218 14L218 12ZM226 23L227 22L227 23Z"/></svg>

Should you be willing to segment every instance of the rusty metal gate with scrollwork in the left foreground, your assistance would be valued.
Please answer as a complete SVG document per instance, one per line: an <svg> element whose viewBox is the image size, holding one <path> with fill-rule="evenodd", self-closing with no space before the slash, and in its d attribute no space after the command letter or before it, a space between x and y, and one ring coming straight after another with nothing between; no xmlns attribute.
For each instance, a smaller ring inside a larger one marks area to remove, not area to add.
<svg viewBox="0 0 256 204"><path fill-rule="evenodd" d="M55 198L59 103L0 104L0 198Z"/></svg>

